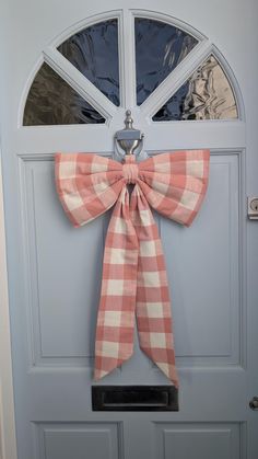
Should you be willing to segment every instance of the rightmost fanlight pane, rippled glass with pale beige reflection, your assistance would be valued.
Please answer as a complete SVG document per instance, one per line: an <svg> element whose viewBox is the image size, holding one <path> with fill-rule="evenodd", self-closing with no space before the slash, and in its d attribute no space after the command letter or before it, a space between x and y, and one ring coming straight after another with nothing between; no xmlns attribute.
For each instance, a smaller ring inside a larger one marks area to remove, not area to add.
<svg viewBox="0 0 258 459"><path fill-rule="evenodd" d="M152 119L235 119L237 116L230 82L218 60L210 56Z"/></svg>

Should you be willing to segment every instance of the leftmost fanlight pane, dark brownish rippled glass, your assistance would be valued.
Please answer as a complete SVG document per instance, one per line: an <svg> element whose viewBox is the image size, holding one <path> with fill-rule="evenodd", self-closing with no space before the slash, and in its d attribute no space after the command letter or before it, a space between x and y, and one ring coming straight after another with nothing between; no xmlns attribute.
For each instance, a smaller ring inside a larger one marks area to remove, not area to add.
<svg viewBox="0 0 258 459"><path fill-rule="evenodd" d="M44 62L27 96L24 126L89 123L105 123L105 119Z"/></svg>

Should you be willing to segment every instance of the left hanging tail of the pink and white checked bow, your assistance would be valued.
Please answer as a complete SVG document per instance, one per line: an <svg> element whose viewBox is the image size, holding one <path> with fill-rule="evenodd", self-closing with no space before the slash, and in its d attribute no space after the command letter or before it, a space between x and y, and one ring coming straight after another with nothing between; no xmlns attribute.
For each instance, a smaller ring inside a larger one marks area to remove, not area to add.
<svg viewBox="0 0 258 459"><path fill-rule="evenodd" d="M129 193L125 186L113 210L105 242L95 340L95 380L108 375L132 355L138 253Z"/></svg>

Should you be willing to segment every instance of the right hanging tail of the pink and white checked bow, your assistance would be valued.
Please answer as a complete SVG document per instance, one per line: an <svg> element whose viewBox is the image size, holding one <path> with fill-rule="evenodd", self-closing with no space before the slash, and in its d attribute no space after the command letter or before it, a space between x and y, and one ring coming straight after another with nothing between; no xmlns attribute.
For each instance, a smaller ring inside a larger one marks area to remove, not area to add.
<svg viewBox="0 0 258 459"><path fill-rule="evenodd" d="M150 206L137 185L130 203L139 241L137 325L141 349L178 387L165 260Z"/></svg>

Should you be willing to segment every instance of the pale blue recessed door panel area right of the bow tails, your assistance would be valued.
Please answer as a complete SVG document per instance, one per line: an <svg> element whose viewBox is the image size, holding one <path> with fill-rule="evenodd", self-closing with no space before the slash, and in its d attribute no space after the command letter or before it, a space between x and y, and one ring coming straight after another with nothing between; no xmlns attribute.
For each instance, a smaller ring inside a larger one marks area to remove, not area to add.
<svg viewBox="0 0 258 459"><path fill-rule="evenodd" d="M181 366L241 365L238 160L212 156L206 203L190 231L162 221L174 320L185 331L176 336Z"/></svg>

